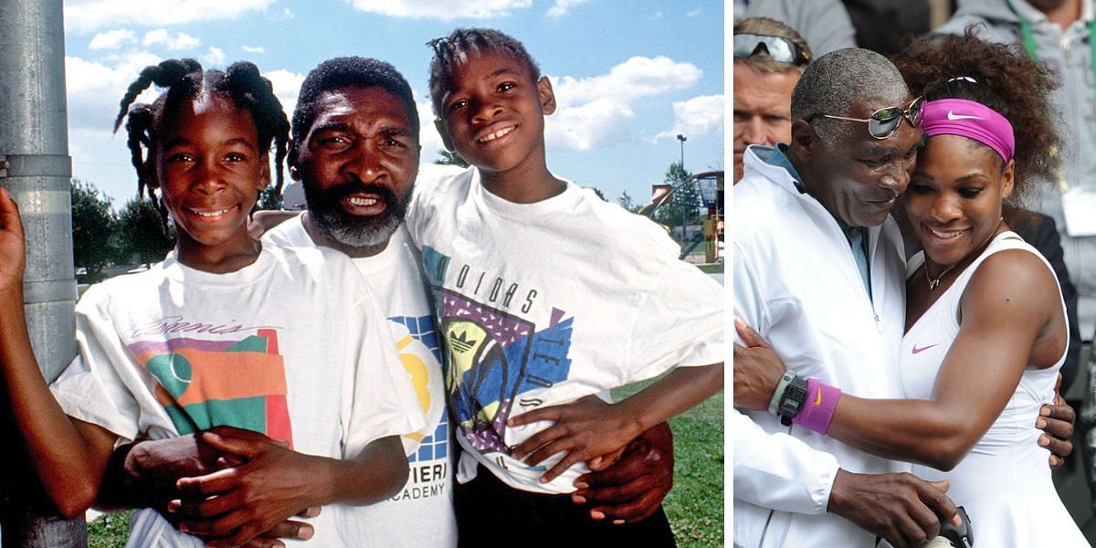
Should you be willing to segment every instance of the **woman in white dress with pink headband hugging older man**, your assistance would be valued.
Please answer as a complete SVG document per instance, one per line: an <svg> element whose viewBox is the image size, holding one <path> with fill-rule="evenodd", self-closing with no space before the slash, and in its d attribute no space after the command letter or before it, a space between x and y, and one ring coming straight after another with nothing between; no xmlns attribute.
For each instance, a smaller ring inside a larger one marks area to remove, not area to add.
<svg viewBox="0 0 1096 548"><path fill-rule="evenodd" d="M916 44L894 65L925 100L926 145L899 205L907 236L923 249L906 267L905 334L894 364L909 399L856 398L809 378L792 427L949 481L947 494L966 507L977 546L1088 546L1058 498L1032 427L1065 359L1065 306L1050 264L1011 229L1030 215L1018 209L1023 198L1052 180L1052 77L1023 49L971 32ZM735 346L735 406L763 409L772 384L751 384L780 378L784 365L762 374L753 369L761 359L740 359L772 351L738 328L756 347Z"/></svg>

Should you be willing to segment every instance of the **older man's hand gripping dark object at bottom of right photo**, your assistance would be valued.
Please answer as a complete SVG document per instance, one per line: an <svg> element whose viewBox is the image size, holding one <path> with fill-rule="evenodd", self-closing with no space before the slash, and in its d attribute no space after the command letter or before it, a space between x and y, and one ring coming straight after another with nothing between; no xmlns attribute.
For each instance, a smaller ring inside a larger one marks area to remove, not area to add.
<svg viewBox="0 0 1096 548"><path fill-rule="evenodd" d="M826 511L886 538L894 548L916 548L939 534L940 520L958 525L958 511L944 494L947 486L911 473L837 470Z"/></svg>

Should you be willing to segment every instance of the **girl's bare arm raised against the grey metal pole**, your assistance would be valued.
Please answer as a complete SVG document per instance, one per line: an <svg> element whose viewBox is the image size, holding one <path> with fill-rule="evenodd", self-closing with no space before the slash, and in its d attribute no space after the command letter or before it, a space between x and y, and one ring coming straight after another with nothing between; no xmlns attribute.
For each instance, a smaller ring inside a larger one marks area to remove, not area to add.
<svg viewBox="0 0 1096 548"><path fill-rule="evenodd" d="M70 420L38 369L23 310L23 240L19 208L0 187L0 375L38 478L61 515L71 518L95 501L115 436Z"/></svg>

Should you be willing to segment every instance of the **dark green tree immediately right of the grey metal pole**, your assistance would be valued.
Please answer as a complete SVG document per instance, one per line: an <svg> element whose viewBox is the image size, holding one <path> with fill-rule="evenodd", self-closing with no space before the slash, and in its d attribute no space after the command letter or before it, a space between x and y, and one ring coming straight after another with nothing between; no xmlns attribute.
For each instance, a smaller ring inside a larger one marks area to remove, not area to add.
<svg viewBox="0 0 1096 548"><path fill-rule="evenodd" d="M87 269L88 279L96 281L114 254L111 198L100 194L94 184L73 179L71 199L72 262L78 269Z"/></svg>

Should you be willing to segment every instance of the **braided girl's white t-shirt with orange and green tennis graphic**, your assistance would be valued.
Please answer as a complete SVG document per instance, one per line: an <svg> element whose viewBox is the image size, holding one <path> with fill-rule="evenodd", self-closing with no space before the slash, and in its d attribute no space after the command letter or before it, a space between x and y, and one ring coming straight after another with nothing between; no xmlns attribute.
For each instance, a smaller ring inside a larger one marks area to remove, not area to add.
<svg viewBox="0 0 1096 548"><path fill-rule="evenodd" d="M92 286L76 313L80 353L54 396L122 439L231 425L352 458L423 425L372 288L334 251L266 246L229 274L169 255ZM309 520L310 546L352 546L339 524L354 510L333 504ZM155 510L134 514L127 546L202 545Z"/></svg>

